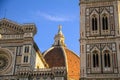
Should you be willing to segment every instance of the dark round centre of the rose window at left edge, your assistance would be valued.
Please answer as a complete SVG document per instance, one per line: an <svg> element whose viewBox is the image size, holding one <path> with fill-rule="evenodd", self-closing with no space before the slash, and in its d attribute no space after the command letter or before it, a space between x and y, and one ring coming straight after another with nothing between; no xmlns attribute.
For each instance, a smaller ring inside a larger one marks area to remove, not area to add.
<svg viewBox="0 0 120 80"><path fill-rule="evenodd" d="M0 55L0 71L8 66L8 58L5 55Z"/></svg>

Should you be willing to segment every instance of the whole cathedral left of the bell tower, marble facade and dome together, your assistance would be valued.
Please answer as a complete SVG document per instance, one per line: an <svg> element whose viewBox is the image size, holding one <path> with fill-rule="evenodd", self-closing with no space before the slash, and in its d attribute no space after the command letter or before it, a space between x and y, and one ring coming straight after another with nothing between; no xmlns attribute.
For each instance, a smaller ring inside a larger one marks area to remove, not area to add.
<svg viewBox="0 0 120 80"><path fill-rule="evenodd" d="M41 53L35 24L0 20L0 80L79 80L80 60L66 47L61 27L52 47Z"/></svg>

